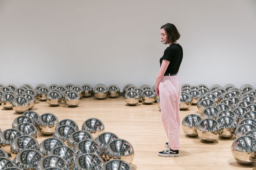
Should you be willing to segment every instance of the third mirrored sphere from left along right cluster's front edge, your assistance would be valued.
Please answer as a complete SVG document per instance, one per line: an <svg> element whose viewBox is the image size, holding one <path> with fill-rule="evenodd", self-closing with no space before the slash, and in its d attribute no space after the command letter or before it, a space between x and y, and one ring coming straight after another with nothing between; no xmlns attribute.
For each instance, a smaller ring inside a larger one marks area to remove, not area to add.
<svg viewBox="0 0 256 170"><path fill-rule="evenodd" d="M224 115L216 120L221 128L220 137L230 138L234 136L236 130L236 119L231 116Z"/></svg>

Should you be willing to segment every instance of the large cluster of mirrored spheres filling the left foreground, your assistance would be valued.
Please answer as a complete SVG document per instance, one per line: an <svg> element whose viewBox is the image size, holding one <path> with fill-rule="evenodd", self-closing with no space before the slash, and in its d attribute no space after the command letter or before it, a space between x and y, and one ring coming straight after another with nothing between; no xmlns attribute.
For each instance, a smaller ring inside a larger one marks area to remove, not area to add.
<svg viewBox="0 0 256 170"><path fill-rule="evenodd" d="M132 145L104 131L97 118L87 119L79 130L71 119L26 111L12 129L0 130L0 170L132 170ZM52 137L39 144L38 132Z"/></svg>

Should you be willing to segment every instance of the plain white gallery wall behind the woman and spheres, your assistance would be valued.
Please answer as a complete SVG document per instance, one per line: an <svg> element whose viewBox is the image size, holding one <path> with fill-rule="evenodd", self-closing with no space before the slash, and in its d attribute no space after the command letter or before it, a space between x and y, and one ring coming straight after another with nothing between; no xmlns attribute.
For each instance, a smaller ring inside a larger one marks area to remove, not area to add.
<svg viewBox="0 0 256 170"><path fill-rule="evenodd" d="M0 0L0 83L153 86L168 22L182 84L256 88L255 0Z"/></svg>

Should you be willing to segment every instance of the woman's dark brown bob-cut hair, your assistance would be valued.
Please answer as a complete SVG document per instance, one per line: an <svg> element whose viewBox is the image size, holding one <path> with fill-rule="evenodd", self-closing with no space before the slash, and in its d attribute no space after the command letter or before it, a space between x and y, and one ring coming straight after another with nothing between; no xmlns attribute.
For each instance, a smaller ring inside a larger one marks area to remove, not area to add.
<svg viewBox="0 0 256 170"><path fill-rule="evenodd" d="M180 38L178 29L172 23L164 24L161 29L164 29L167 35L167 41L165 44L174 43Z"/></svg>

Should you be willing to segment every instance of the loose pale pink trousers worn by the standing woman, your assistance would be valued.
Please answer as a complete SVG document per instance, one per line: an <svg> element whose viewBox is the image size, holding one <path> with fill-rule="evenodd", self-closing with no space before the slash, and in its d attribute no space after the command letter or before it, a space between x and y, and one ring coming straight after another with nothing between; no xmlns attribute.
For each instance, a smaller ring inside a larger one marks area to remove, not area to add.
<svg viewBox="0 0 256 170"><path fill-rule="evenodd" d="M161 115L169 147L180 149L180 79L176 76L164 76L159 84Z"/></svg>

